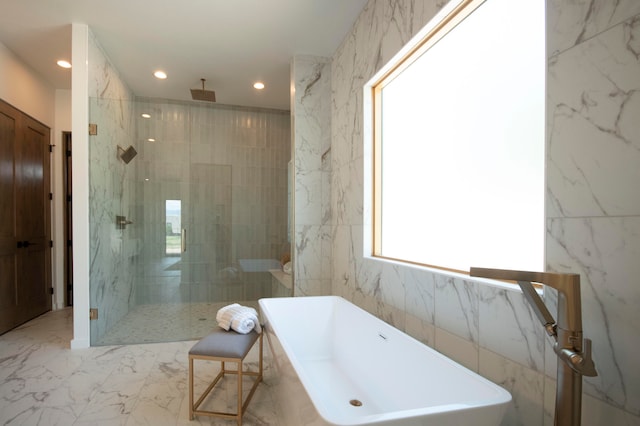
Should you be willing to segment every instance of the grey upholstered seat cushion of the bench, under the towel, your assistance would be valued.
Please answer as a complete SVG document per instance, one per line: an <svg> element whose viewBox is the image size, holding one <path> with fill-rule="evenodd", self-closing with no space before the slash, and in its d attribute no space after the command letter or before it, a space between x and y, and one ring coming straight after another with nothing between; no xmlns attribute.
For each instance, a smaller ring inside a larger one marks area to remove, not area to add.
<svg viewBox="0 0 640 426"><path fill-rule="evenodd" d="M217 328L193 345L189 355L243 359L260 335L255 331L240 334Z"/></svg>

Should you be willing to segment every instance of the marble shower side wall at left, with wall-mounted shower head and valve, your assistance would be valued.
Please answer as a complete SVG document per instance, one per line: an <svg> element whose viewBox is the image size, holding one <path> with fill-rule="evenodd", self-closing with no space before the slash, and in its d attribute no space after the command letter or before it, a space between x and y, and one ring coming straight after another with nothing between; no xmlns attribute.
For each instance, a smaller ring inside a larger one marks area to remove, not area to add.
<svg viewBox="0 0 640 426"><path fill-rule="evenodd" d="M116 215L131 217L135 159L125 165L118 145L134 144L133 94L112 66L99 41L89 32L90 306L99 308L91 321L91 340L98 341L130 309L133 298L136 236L116 228Z"/></svg>

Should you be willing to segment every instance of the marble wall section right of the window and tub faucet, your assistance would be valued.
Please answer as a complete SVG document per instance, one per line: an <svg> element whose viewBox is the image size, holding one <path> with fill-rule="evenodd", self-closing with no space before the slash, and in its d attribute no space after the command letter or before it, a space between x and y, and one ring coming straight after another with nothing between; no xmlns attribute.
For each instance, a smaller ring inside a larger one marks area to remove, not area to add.
<svg viewBox="0 0 640 426"><path fill-rule="evenodd" d="M547 263L581 275L585 393L640 424L640 2L547 5Z"/></svg>

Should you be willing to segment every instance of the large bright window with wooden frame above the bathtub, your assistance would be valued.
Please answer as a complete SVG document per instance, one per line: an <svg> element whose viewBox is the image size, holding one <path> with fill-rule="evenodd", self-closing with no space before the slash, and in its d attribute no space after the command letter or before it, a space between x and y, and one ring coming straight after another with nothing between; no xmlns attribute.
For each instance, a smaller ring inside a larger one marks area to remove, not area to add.
<svg viewBox="0 0 640 426"><path fill-rule="evenodd" d="M543 269L544 29L540 0L451 1L365 86L374 256Z"/></svg>

